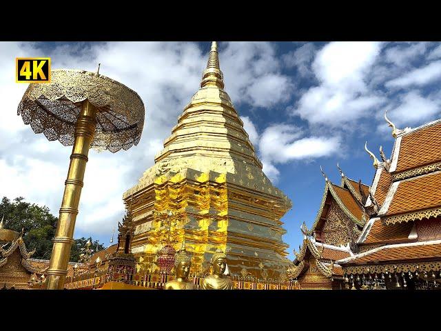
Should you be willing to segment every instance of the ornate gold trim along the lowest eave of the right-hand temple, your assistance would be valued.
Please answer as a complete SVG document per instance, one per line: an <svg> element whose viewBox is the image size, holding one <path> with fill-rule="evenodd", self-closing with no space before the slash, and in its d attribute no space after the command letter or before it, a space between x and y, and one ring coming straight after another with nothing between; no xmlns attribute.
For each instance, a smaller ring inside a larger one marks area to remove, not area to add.
<svg viewBox="0 0 441 331"><path fill-rule="evenodd" d="M418 268L417 268L418 267ZM385 272L416 272L441 270L441 261L420 263L398 263L382 265L342 266L345 274L380 274Z"/></svg>

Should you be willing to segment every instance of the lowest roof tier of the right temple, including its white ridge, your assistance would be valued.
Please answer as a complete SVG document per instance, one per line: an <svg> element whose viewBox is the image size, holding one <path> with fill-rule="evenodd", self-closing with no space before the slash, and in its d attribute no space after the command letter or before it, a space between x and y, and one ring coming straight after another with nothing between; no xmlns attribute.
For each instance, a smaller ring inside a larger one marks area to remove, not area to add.
<svg viewBox="0 0 441 331"><path fill-rule="evenodd" d="M363 265L380 263L411 263L441 258L441 240L419 243L400 243L374 248L354 257L337 261L340 265Z"/></svg>

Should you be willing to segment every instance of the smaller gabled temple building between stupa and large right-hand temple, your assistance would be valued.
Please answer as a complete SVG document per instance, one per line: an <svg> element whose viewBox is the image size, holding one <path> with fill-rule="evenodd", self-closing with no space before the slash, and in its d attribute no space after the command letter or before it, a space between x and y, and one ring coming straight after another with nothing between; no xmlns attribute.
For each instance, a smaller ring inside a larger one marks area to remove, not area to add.
<svg viewBox="0 0 441 331"><path fill-rule="evenodd" d="M369 214L364 208L369 186L353 181L343 174L340 185L329 181L324 172L325 190L311 230L305 223L300 230L303 243L294 250L294 267L289 277L298 281L300 289L342 289L345 286L339 259L351 257L355 242Z"/></svg>

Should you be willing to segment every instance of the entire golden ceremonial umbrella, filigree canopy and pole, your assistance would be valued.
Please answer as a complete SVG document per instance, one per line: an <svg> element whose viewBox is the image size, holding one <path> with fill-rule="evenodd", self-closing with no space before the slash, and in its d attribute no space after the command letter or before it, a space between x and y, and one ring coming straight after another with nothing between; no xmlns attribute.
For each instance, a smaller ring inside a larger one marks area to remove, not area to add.
<svg viewBox="0 0 441 331"><path fill-rule="evenodd" d="M137 145L144 104L136 92L99 71L52 70L50 83L29 85L17 114L35 133L73 145L48 270L48 289L63 289L89 149L117 152Z"/></svg>

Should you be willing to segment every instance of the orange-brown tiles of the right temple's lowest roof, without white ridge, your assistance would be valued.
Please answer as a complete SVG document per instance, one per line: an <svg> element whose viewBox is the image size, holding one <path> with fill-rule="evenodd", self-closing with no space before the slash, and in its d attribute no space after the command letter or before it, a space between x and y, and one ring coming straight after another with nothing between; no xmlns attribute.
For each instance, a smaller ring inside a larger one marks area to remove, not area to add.
<svg viewBox="0 0 441 331"><path fill-rule="evenodd" d="M390 263L391 261L406 261L418 259L441 259L441 243L431 245L409 245L402 247L387 246L382 250L371 252L357 259L348 261L348 264L367 264L367 263Z"/></svg>

